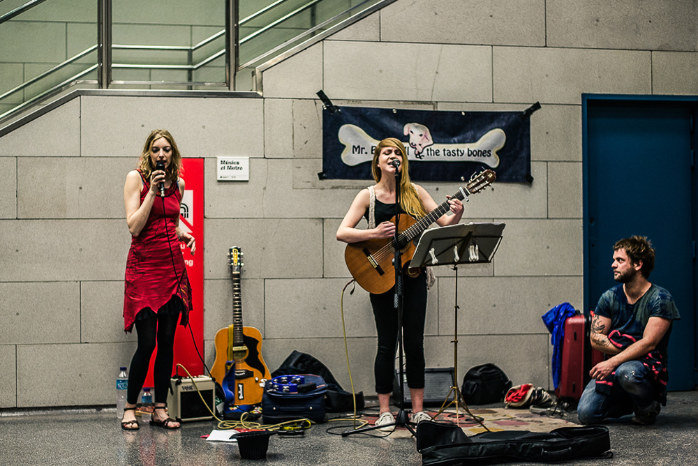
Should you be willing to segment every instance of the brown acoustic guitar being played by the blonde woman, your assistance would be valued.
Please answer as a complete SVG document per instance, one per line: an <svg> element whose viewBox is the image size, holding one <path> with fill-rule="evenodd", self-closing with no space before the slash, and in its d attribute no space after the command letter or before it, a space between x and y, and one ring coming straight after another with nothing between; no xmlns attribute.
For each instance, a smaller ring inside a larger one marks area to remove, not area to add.
<svg viewBox="0 0 698 466"><path fill-rule="evenodd" d="M492 170L484 170L484 172L473 175L466 186L459 188L451 197L467 201L469 195L487 188L495 179L496 175ZM344 250L344 260L352 277L369 293L380 294L390 290L395 285L392 265L395 249L401 250L402 266L406 266L415 254L417 241L419 241L422 232L450 209L448 200L446 200L419 220L415 220L406 213L401 213L399 215L397 243L394 238L381 238L348 244ZM395 223L395 217L390 221Z"/></svg>

